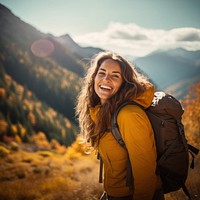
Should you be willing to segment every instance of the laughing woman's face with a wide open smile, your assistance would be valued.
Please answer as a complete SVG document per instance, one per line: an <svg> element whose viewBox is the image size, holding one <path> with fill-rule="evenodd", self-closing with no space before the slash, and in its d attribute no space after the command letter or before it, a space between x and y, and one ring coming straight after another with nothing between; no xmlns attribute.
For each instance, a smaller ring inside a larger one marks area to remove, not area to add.
<svg viewBox="0 0 200 200"><path fill-rule="evenodd" d="M122 85L121 68L118 62L107 59L103 61L94 79L94 90L101 104L117 93Z"/></svg>

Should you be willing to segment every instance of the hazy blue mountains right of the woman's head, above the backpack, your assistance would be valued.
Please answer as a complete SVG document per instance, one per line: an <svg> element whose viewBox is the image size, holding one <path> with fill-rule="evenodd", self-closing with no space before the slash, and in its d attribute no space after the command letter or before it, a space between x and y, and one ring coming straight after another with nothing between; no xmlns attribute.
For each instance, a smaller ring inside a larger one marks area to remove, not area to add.
<svg viewBox="0 0 200 200"><path fill-rule="evenodd" d="M200 81L200 51L156 51L135 63L161 90L178 99L183 99L190 86Z"/></svg>

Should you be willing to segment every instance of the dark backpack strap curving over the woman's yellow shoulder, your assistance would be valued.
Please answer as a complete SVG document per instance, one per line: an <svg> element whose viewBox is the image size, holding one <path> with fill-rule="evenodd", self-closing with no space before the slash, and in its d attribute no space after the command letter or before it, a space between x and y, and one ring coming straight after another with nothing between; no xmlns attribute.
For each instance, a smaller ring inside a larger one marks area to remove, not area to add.
<svg viewBox="0 0 200 200"><path fill-rule="evenodd" d="M131 101L131 100L127 100L124 101L123 103L121 103L119 105L119 107L117 108L117 110L114 112L113 116L112 116L112 126L111 126L111 132L113 134L113 136L115 137L115 139L117 140L117 142L123 147L126 148L126 145L122 139L121 133L119 131L119 126L117 124L117 116L120 112L120 110L125 107L126 105L137 105L138 107L144 109L140 104Z"/></svg>

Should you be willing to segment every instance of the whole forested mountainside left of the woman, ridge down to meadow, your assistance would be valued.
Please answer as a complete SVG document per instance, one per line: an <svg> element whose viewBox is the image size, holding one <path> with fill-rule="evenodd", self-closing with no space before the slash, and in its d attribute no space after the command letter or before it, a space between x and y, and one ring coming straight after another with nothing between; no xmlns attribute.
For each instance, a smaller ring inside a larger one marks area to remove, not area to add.
<svg viewBox="0 0 200 200"><path fill-rule="evenodd" d="M0 102L0 120L5 121L7 131L10 126L20 124L28 135L42 131L49 141L55 138L61 144L70 145L77 134L74 106L84 64L53 36L24 23L2 5L0 25L0 87L4 94ZM48 46L44 44L50 44L53 52L48 54ZM7 77L11 88L5 81ZM18 97L15 88L21 88L22 97ZM26 98L27 92L32 94L32 99ZM11 96L15 101L10 105ZM32 110L24 102L31 105ZM32 112L37 126L28 121L27 112ZM20 136L20 132L16 132Z"/></svg>

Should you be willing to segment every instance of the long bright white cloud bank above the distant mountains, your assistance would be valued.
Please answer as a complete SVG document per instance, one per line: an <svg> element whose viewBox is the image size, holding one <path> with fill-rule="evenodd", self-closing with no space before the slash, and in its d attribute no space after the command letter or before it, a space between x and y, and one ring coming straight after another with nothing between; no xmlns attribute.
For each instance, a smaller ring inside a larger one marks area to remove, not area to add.
<svg viewBox="0 0 200 200"><path fill-rule="evenodd" d="M112 22L101 32L76 36L74 40L81 46L99 47L123 55L141 57L156 50L200 50L200 29L146 29L133 23Z"/></svg>

